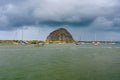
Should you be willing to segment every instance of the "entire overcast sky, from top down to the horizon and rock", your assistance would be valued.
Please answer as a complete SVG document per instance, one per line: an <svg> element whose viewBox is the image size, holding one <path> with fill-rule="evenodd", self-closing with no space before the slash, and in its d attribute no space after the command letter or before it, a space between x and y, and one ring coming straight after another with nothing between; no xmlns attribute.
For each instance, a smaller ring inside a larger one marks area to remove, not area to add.
<svg viewBox="0 0 120 80"><path fill-rule="evenodd" d="M40 39L60 27L75 40L120 41L120 0L0 0L0 39Z"/></svg>

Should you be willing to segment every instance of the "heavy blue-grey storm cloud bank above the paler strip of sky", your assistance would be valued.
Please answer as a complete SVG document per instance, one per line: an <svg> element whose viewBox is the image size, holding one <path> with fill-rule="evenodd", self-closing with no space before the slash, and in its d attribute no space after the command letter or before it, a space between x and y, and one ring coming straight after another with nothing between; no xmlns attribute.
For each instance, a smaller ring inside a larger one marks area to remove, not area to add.
<svg viewBox="0 0 120 80"><path fill-rule="evenodd" d="M0 29L67 25L112 30L120 25L119 8L119 0L0 0Z"/></svg>

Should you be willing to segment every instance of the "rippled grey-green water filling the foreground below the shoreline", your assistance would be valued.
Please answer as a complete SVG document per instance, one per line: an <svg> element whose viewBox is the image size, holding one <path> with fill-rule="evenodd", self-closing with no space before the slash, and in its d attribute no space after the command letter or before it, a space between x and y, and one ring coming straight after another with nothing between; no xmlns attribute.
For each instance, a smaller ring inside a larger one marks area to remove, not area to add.
<svg viewBox="0 0 120 80"><path fill-rule="evenodd" d="M1 44L0 80L120 80L120 44Z"/></svg>

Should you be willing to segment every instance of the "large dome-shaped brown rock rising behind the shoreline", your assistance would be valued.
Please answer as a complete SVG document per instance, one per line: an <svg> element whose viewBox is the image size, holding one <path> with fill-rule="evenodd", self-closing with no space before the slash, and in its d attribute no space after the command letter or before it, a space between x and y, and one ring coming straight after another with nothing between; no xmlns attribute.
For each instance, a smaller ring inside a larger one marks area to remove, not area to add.
<svg viewBox="0 0 120 80"><path fill-rule="evenodd" d="M65 28L59 28L53 32L51 32L46 41L61 41L61 42L73 42L74 39L70 32L68 32Z"/></svg>

